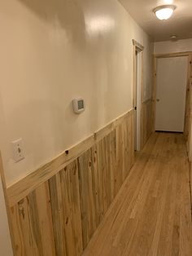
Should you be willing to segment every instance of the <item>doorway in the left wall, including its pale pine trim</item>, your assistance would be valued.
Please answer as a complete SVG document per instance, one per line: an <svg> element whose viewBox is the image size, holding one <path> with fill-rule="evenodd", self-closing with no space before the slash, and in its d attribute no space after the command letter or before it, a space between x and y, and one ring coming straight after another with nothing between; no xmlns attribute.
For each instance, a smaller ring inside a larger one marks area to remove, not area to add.
<svg viewBox="0 0 192 256"><path fill-rule="evenodd" d="M134 150L141 150L142 70L144 47L133 40Z"/></svg>

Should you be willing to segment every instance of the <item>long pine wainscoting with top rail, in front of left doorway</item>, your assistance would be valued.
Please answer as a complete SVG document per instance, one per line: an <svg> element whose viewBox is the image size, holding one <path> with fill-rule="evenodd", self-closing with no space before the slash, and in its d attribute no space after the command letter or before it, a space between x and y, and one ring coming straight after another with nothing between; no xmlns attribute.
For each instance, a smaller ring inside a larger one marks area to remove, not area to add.
<svg viewBox="0 0 192 256"><path fill-rule="evenodd" d="M7 188L15 255L81 255L133 155L131 110Z"/></svg>

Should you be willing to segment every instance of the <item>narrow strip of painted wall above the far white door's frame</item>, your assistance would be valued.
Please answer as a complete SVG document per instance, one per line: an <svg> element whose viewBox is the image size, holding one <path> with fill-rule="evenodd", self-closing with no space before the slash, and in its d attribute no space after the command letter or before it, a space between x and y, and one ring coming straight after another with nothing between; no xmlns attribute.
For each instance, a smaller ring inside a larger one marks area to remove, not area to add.
<svg viewBox="0 0 192 256"><path fill-rule="evenodd" d="M155 54L192 51L192 38L178 40L176 42L172 42L172 41L155 42L154 51L155 51Z"/></svg>

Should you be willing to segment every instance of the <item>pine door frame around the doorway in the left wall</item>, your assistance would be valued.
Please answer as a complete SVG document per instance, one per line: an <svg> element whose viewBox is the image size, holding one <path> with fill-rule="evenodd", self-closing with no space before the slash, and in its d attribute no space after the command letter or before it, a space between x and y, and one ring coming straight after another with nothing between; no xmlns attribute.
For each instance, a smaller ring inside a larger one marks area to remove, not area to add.
<svg viewBox="0 0 192 256"><path fill-rule="evenodd" d="M134 149L135 151L140 151L142 148L142 99L143 99L143 51L144 46L133 39L133 112L134 112L134 129L133 129L133 139L134 139ZM140 70L140 86L137 86L137 54L141 55L141 70ZM137 90L141 95L139 99L139 105L137 105ZM135 118L138 121L135 122ZM135 135L136 133L136 135ZM135 148L136 139L136 148Z"/></svg>

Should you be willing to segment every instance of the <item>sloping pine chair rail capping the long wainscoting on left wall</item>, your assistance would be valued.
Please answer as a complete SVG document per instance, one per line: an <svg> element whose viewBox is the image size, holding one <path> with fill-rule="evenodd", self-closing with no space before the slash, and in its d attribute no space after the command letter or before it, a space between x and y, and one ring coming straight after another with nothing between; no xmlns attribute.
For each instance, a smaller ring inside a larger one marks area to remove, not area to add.
<svg viewBox="0 0 192 256"><path fill-rule="evenodd" d="M133 109L116 118L114 121L111 121L110 124L103 127L103 129L98 130L94 135L89 136L89 138L83 140L81 143L78 143L74 147L61 153L58 157L55 157L52 161L46 163L46 165L41 166L39 169L33 171L33 173L28 174L23 179L8 186L7 198L9 205L15 205L15 203L24 198L24 196L27 196L35 188L41 185L41 183L45 183L48 179L59 173L60 170L65 166L68 166L72 161L75 161L77 157L80 157L100 139L103 139L104 136L110 134L116 126L123 123L129 116L132 117L132 113Z"/></svg>

